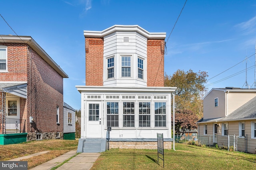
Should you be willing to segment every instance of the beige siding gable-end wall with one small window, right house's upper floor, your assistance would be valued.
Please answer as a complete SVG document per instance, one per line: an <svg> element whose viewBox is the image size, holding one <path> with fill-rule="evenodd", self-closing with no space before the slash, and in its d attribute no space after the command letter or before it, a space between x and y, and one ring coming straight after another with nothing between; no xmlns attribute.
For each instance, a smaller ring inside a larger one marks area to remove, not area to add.
<svg viewBox="0 0 256 170"><path fill-rule="evenodd" d="M214 106L214 99L218 98L218 107ZM204 119L225 117L226 98L224 91L212 90L204 98Z"/></svg>

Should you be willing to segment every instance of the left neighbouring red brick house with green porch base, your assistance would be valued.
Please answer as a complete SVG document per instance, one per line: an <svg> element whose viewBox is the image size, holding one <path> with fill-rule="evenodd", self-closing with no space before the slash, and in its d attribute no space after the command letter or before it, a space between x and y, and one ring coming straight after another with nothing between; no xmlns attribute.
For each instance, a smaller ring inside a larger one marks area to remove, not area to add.
<svg viewBox="0 0 256 170"><path fill-rule="evenodd" d="M30 36L0 36L0 144L63 138L63 78Z"/></svg>

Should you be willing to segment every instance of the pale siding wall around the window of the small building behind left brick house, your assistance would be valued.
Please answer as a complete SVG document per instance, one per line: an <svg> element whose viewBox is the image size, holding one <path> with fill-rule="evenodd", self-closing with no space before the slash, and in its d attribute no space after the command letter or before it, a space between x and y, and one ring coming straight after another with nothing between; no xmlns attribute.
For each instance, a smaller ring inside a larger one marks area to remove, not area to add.
<svg viewBox="0 0 256 170"><path fill-rule="evenodd" d="M76 113L66 107L64 107L63 112L64 112L63 132L64 133L76 132L76 116L75 116ZM68 112L72 113L72 125L68 124Z"/></svg>

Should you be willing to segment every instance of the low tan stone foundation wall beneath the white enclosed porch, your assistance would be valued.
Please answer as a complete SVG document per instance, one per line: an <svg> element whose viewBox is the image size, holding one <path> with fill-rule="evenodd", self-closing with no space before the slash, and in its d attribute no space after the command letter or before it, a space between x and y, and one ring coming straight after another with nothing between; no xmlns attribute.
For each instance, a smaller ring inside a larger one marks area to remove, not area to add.
<svg viewBox="0 0 256 170"><path fill-rule="evenodd" d="M122 149L157 149L157 142L113 142L110 141L109 148ZM171 149L172 142L164 142L164 149Z"/></svg>

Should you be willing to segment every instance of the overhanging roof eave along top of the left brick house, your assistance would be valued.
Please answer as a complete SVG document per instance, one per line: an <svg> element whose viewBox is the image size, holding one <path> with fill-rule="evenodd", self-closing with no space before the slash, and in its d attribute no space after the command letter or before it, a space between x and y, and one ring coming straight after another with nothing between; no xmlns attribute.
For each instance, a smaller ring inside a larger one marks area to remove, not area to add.
<svg viewBox="0 0 256 170"><path fill-rule="evenodd" d="M36 53L38 53L44 61L46 61L55 71L57 71L63 78L68 78L68 75L60 68L59 65L42 49L38 43L30 36L5 36L0 35L0 42L2 43L26 43Z"/></svg>

